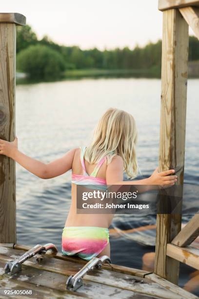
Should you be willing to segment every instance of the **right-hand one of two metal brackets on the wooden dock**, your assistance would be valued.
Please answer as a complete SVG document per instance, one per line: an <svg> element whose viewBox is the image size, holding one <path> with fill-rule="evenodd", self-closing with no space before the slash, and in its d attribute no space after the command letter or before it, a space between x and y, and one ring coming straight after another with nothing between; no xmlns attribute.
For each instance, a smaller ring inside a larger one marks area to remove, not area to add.
<svg viewBox="0 0 199 299"><path fill-rule="evenodd" d="M69 276L66 281L66 289L71 291L76 291L79 289L80 286L83 285L82 278L94 268L100 269L103 262L111 263L111 260L108 256L101 256L100 258L93 257L87 264L83 266L83 268L81 268L78 273L76 273L74 276Z"/></svg>

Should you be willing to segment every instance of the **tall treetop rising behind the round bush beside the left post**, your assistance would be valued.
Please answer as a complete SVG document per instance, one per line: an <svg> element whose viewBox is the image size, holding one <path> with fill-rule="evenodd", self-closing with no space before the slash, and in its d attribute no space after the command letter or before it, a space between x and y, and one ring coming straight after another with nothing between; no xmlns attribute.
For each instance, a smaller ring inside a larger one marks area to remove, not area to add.
<svg viewBox="0 0 199 299"><path fill-rule="evenodd" d="M36 43L38 43L37 35L29 25L17 26L17 53Z"/></svg>

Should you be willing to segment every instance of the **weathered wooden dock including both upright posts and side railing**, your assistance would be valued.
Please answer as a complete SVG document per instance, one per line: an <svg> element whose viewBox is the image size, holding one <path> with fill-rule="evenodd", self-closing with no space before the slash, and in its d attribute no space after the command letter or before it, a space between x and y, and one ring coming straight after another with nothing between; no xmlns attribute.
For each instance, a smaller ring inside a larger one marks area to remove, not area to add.
<svg viewBox="0 0 199 299"><path fill-rule="evenodd" d="M175 169L177 183L183 186L188 26L199 38L199 0L159 0L159 10L163 14L159 171ZM15 137L17 25L25 25L23 15L0 13L0 138L7 141ZM89 272L77 291L69 291L67 278L79 272L85 261L49 252L26 260L16 274L5 274L5 264L30 249L16 244L15 182L15 162L0 155L0 298L10 298L2 294L3 288L32 290L32 295L12 296L19 299L198 298L177 284L179 262L199 270L199 250L190 246L199 235L199 214L182 230L181 214L157 215L155 274L106 264Z"/></svg>

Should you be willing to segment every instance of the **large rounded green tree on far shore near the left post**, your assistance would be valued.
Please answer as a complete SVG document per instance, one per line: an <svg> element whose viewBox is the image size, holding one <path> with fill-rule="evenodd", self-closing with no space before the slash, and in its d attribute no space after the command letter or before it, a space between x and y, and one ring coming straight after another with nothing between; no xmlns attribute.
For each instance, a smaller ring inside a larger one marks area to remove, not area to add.
<svg viewBox="0 0 199 299"><path fill-rule="evenodd" d="M61 77L65 63L61 54L44 45L32 45L17 54L17 69L31 79L54 80Z"/></svg>

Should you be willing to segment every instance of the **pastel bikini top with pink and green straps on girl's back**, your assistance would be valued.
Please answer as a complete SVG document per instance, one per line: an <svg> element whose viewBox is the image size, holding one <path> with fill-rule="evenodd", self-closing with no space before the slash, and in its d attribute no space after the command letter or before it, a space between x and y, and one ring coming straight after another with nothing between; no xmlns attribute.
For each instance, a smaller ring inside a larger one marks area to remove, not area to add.
<svg viewBox="0 0 199 299"><path fill-rule="evenodd" d="M100 162L98 162L98 164L96 165L94 171L90 175L88 175L84 164L85 149L86 147L81 148L81 153L80 153L80 162L83 169L83 174L72 173L72 183L76 185L102 185L106 187L106 180L96 177L101 165L106 160L106 157L103 157L100 160Z"/></svg>

